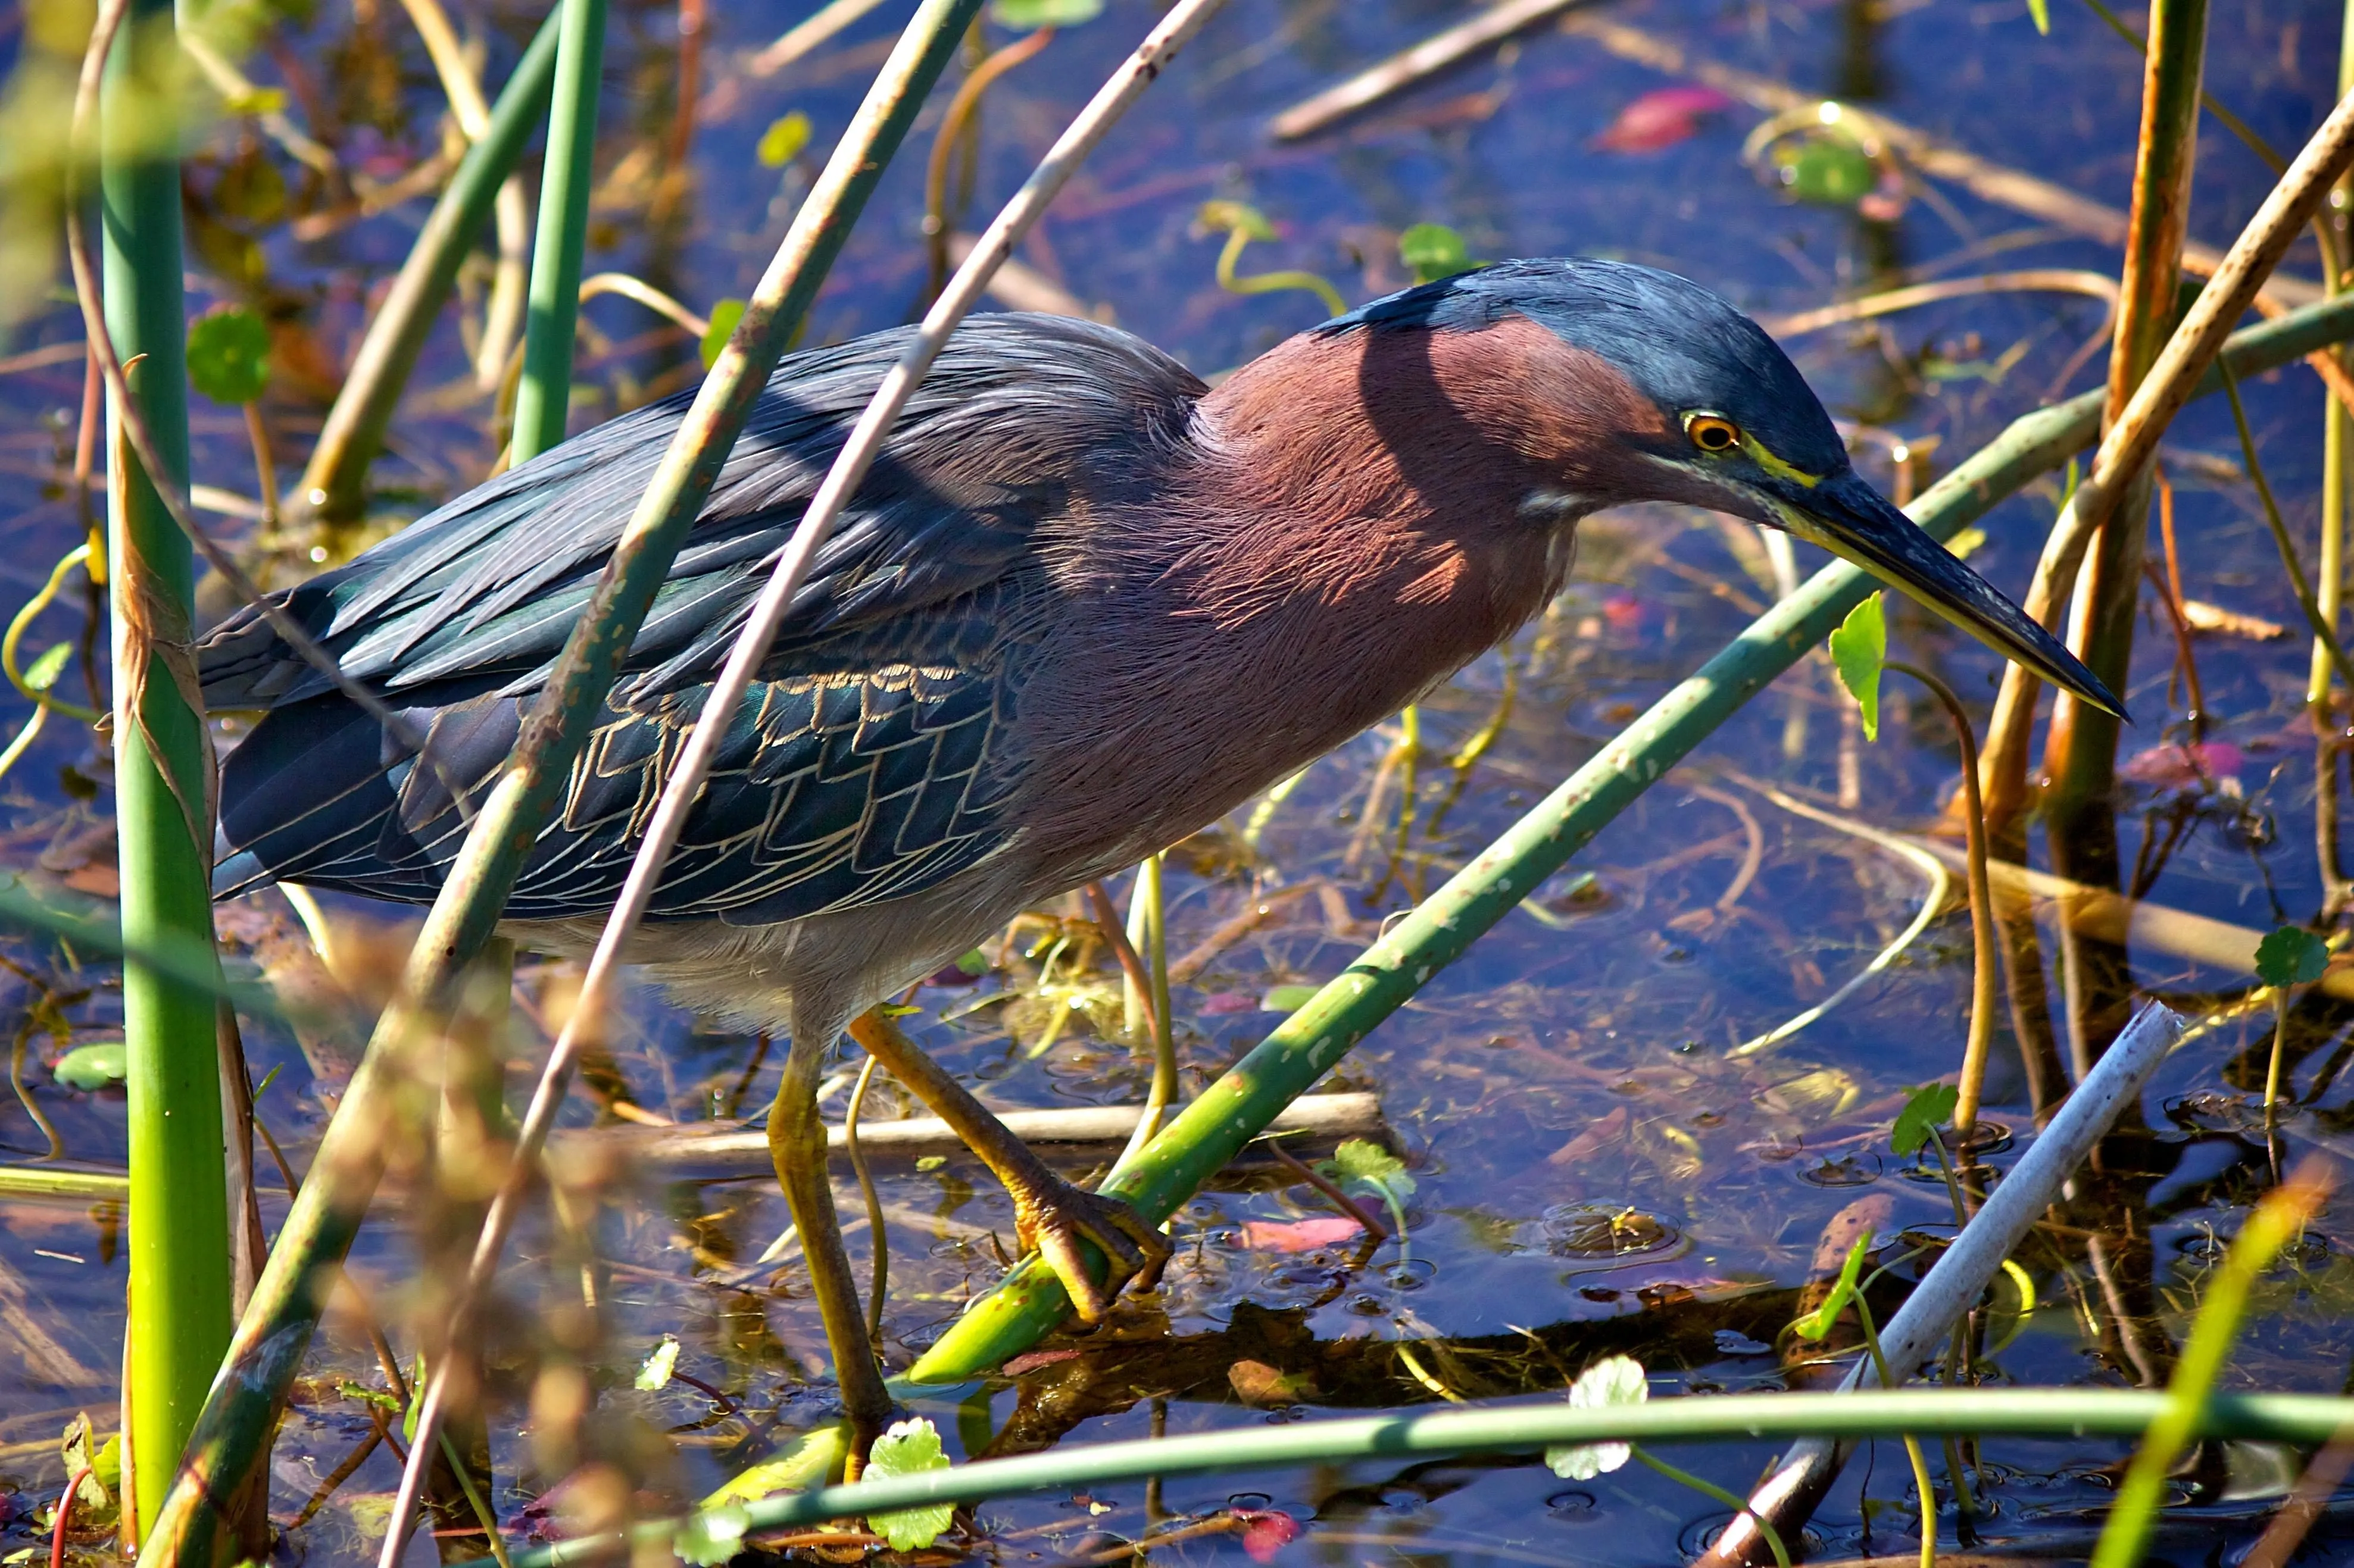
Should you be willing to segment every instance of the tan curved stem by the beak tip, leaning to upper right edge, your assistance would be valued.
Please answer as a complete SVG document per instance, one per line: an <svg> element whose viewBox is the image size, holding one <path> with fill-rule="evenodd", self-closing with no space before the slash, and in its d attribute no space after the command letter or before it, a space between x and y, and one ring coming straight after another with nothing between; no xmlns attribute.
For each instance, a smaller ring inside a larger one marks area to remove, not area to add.
<svg viewBox="0 0 2354 1568"><path fill-rule="evenodd" d="M2342 99L2298 151L2288 174L2241 228L2215 275L2166 339L2149 374L2133 388L2123 412L2102 421L2102 440L2093 454L2090 473L2060 511L2060 520L2053 523L2053 532L2043 542L2043 556L2036 560L2036 574L2022 603L2029 617L2046 626L2053 624L2060 603L2074 591L2076 567L2093 539L2093 525L2109 513L2112 499L2156 454L2159 438L2194 396L2194 386L2203 384L2232 325L2255 304L2265 278L2279 266L2349 162L2354 162L2354 97ZM2330 304L2307 306L2307 311L2314 308L2326 311ZM2298 311L2298 315L2302 313ZM1996 838L2027 805L2027 744L2039 692L2041 680L2013 664L2003 671L1994 718L1987 723L1980 784L1987 798L1987 829Z"/></svg>

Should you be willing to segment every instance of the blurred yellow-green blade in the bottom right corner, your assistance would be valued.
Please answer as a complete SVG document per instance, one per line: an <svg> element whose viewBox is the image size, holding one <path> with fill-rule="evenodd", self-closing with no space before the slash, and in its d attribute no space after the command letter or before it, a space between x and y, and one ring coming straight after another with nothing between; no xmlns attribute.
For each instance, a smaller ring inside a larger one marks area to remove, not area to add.
<svg viewBox="0 0 2354 1568"><path fill-rule="evenodd" d="M2192 1337L2182 1344L2182 1358L2166 1384L2166 1406L2149 1422L2149 1434L2116 1488L2116 1502L2109 1504L2109 1523L2093 1549L2093 1568L2133 1568L2142 1559L2159 1502L2166 1495L2166 1474L2199 1431L2201 1408L2232 1354L2232 1340L2239 1337L2239 1321L2248 1311L2248 1290L2255 1285L2255 1276L2321 1210L2328 1189L2328 1165L2309 1163L2293 1172L2286 1184L2265 1194L2239 1236L2232 1238L2232 1248L2199 1297Z"/></svg>

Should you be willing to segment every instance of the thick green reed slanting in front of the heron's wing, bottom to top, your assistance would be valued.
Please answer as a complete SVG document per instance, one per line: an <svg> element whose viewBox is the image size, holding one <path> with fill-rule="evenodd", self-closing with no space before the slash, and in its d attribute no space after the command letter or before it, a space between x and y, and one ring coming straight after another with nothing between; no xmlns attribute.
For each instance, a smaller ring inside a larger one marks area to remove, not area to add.
<svg viewBox="0 0 2354 1568"><path fill-rule="evenodd" d="M198 1422L188 1462L158 1514L158 1540L148 1547L162 1552L155 1563L205 1568L214 1554L221 1500L233 1497L264 1464L278 1413L318 1328L320 1302L327 1300L384 1175L381 1130L400 1104L398 1062L412 1041L435 1029L435 1012L447 1005L457 979L490 939L523 859L612 690L621 655L636 640L654 591L767 386L770 370L977 9L979 0L918 5L605 563L516 756L480 800L466 843L417 935L400 994L377 1019L367 1055L327 1123L313 1175L278 1231L217 1394ZM476 153L497 139L497 115L492 129L492 137L476 144ZM485 210L494 188L497 181L487 181Z"/></svg>

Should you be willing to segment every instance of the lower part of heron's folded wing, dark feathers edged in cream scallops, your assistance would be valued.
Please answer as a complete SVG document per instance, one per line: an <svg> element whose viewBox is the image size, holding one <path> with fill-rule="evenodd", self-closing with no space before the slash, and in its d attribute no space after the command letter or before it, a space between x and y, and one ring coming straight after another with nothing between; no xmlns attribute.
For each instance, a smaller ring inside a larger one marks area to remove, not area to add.
<svg viewBox="0 0 2354 1568"><path fill-rule="evenodd" d="M753 685L687 817L654 918L789 921L937 885L1010 838L1000 803L1017 678L1003 664L878 666ZM629 871L709 685L598 716L563 805L518 876L516 918L600 916ZM426 765L341 697L275 709L231 753L217 890L292 881L428 902L525 704L485 692L431 713Z"/></svg>

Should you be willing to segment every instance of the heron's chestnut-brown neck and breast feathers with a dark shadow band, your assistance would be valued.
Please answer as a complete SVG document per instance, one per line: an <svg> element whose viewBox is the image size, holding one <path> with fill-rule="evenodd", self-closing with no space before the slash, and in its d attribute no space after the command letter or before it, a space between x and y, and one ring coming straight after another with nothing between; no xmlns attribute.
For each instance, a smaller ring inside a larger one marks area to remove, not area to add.
<svg viewBox="0 0 2354 1568"><path fill-rule="evenodd" d="M1062 591L1102 614L1071 617L1085 655L1024 690L1073 720L1031 758L1038 838L1151 850L1495 647L1561 589L1587 497L1629 490L1624 436L1655 426L1525 318L1302 334L1238 370L1151 499L1078 509L1057 551Z"/></svg>

